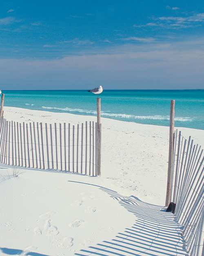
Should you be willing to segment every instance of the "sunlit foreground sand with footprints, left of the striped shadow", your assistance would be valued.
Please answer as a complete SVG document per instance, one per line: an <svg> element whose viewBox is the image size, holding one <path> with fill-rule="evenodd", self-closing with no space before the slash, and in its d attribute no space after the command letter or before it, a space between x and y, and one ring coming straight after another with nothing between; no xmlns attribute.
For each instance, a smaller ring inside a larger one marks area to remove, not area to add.
<svg viewBox="0 0 204 256"><path fill-rule="evenodd" d="M90 177L22 170L18 178L9 179L12 171L1 167L1 248L73 255L77 249L111 239L135 222L133 215L98 187L70 182L90 183ZM98 183L96 179L91 182ZM117 212L122 222L115 218Z"/></svg>

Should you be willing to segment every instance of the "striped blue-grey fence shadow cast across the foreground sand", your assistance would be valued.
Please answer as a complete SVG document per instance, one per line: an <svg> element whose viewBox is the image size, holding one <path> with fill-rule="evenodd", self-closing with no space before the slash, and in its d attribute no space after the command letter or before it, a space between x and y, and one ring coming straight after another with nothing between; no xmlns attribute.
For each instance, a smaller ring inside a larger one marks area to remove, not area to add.
<svg viewBox="0 0 204 256"><path fill-rule="evenodd" d="M166 213L162 206L156 206L142 202L134 196L125 197L114 190L98 185L102 191L119 202L127 211L137 218L132 227L127 227L119 232L112 240L103 240L95 246L81 249L75 255L88 256L184 256L186 249L182 238L180 225L176 222L172 213Z"/></svg>

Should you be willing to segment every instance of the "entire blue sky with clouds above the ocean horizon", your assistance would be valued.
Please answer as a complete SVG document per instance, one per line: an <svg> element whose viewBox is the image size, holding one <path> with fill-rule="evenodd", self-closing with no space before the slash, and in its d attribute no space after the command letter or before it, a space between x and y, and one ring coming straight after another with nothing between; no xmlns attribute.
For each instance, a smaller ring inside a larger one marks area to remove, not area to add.
<svg viewBox="0 0 204 256"><path fill-rule="evenodd" d="M0 6L3 89L204 88L204 1Z"/></svg>

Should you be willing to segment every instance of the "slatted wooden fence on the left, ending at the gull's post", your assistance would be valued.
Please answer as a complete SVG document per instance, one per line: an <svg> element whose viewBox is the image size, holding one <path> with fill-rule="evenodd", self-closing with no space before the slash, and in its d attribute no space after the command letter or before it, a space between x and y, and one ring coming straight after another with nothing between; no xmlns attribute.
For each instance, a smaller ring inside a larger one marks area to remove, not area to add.
<svg viewBox="0 0 204 256"><path fill-rule="evenodd" d="M0 118L0 162L100 176L101 131L91 121L53 125Z"/></svg>

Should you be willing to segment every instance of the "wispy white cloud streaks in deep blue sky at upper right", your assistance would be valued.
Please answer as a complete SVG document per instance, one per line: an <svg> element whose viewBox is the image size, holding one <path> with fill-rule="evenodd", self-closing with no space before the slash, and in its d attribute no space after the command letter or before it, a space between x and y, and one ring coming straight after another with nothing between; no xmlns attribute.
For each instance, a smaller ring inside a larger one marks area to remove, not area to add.
<svg viewBox="0 0 204 256"><path fill-rule="evenodd" d="M134 27L163 27L166 29L182 29L197 27L204 23L204 13L193 14L190 16L162 16L152 18L152 22L134 25Z"/></svg>

